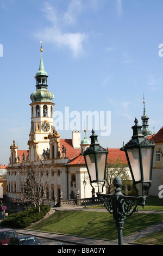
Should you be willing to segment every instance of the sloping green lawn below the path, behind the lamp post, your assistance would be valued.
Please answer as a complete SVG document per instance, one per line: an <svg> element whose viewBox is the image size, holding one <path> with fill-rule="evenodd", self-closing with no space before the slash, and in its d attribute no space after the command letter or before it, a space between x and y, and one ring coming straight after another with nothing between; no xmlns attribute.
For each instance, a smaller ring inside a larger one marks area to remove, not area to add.
<svg viewBox="0 0 163 256"><path fill-rule="evenodd" d="M134 214L126 218L123 236L162 220L163 215L160 214ZM108 212L57 211L47 219L33 225L31 229L99 239L117 239L115 221Z"/></svg>

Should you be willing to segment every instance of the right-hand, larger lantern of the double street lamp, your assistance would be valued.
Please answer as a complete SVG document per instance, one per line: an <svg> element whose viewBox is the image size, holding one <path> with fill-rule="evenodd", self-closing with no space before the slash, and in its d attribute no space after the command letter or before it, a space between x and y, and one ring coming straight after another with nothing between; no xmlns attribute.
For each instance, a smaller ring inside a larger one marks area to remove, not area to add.
<svg viewBox="0 0 163 256"><path fill-rule="evenodd" d="M141 184L141 195L144 196L143 184L148 184L148 194L149 187L152 182L152 166L155 144L142 135L141 128L142 126L138 124L138 121L135 118L135 125L132 127L133 136L121 150L126 153L130 173L133 179L133 185L136 188L136 184Z"/></svg>

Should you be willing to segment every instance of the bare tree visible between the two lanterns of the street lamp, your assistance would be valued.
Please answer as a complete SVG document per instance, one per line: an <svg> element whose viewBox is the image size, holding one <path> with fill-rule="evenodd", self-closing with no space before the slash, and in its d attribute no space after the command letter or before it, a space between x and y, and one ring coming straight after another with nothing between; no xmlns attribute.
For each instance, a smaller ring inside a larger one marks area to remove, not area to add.
<svg viewBox="0 0 163 256"><path fill-rule="evenodd" d="M114 190L114 178L119 176L122 180L122 186L126 187L130 185L130 176L129 176L129 169L128 164L124 163L120 159L116 159L107 163L106 166L106 187L107 192L110 194ZM128 193L130 191L128 190Z"/></svg>

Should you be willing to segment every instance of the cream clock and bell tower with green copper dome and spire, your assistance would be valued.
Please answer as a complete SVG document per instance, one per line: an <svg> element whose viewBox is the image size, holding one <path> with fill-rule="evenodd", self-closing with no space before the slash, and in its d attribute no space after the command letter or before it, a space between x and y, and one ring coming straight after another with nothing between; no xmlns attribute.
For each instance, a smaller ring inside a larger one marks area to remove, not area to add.
<svg viewBox="0 0 163 256"><path fill-rule="evenodd" d="M47 72L45 71L42 59L42 41L41 59L39 71L35 75L36 91L30 95L31 107L31 129L29 134L29 161L43 159L43 154L49 149L48 135L53 131L53 93L49 92L47 87Z"/></svg>

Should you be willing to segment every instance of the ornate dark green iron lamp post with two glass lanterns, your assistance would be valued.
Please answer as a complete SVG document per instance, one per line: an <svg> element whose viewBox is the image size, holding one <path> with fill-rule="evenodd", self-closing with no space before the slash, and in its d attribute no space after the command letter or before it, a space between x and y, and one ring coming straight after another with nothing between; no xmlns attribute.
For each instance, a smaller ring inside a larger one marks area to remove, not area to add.
<svg viewBox="0 0 163 256"><path fill-rule="evenodd" d="M135 119L135 125L132 127L133 129L133 136L131 140L121 148L124 150L127 156L127 161L129 164L131 176L133 178L133 184L141 184L142 186L142 194L141 196L132 197L132 196L123 196L121 192L121 179L116 177L114 179L115 185L115 193L114 194L103 194L99 192L99 185L98 185L98 198L104 203L106 209L109 211L110 214L113 214L116 227L118 230L118 245L123 245L123 224L126 217L131 216L134 212L138 210L138 206L141 205L142 207L145 206L146 196L143 191L143 184L148 183L149 186L151 185L151 178L152 178L152 164L153 164L153 151L155 144L154 142L148 141L143 135L141 128L142 126L137 124L137 119ZM83 155L85 158L87 171L90 176L90 182L105 182L105 169L106 169L106 162L103 164L103 168L100 169L100 173L98 170L98 166L102 166L102 163L92 165L91 159L96 159L96 150L93 150L93 145L95 145L95 135L94 131L92 131L91 138L91 145L87 148ZM97 141L96 136L96 145L99 143ZM99 146L100 147L100 146ZM105 154L105 161L106 155L108 154L107 150L103 151L98 149L98 151L103 152ZM107 151L107 153L106 153ZM91 156L90 156L91 154ZM102 158L101 158L102 159ZM102 162L102 161L101 161ZM104 162L104 161L103 161ZM96 168L95 168L96 167ZM99 177L101 179L99 179ZM149 189L148 186L148 189ZM137 190L137 189L136 189ZM102 190L103 192L103 190ZM138 190L137 190L138 192Z"/></svg>

